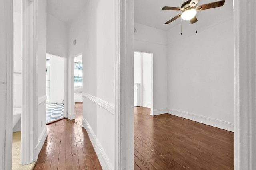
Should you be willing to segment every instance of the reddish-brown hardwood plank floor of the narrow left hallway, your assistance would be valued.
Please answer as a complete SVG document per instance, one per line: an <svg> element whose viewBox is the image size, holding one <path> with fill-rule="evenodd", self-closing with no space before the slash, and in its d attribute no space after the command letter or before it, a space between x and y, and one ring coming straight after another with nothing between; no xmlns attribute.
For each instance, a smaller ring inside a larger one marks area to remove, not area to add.
<svg viewBox="0 0 256 170"><path fill-rule="evenodd" d="M82 128L82 102L76 103L76 119L47 125L48 137L34 170L101 170L89 136Z"/></svg>

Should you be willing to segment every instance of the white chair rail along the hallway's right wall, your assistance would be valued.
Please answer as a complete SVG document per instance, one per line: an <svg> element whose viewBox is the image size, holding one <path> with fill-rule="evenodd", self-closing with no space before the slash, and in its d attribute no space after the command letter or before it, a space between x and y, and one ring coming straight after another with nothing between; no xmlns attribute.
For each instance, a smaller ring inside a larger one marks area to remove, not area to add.
<svg viewBox="0 0 256 170"><path fill-rule="evenodd" d="M107 111L115 115L115 107L113 104L110 104L107 101L102 100L96 96L92 96L91 94L88 94L88 93L83 93L83 97L92 100L92 102L98 104L99 106L103 107L104 109L106 109Z"/></svg>

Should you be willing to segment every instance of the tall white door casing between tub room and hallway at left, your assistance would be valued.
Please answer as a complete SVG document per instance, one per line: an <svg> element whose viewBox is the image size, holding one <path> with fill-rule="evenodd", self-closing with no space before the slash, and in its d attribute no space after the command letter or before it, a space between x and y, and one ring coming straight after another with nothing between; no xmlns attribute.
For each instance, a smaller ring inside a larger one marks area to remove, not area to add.
<svg viewBox="0 0 256 170"><path fill-rule="evenodd" d="M38 113L38 10L37 0L22 0L22 126L20 163L34 162ZM35 138L34 138L35 137Z"/></svg>

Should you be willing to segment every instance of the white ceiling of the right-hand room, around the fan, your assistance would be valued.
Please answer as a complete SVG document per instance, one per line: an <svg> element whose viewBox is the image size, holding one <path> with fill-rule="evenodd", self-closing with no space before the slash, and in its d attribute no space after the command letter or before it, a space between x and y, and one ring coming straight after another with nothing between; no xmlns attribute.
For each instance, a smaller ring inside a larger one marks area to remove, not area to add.
<svg viewBox="0 0 256 170"><path fill-rule="evenodd" d="M208 4L219 0L200 0L199 4ZM134 22L150 27L169 30L175 25L180 24L180 18L175 21L164 24L174 16L180 14L180 11L161 10L164 6L180 7L186 0L134 0ZM199 11L198 21L216 20L216 14L227 14L227 10L232 12L232 0L226 0L224 6ZM189 22L189 21L186 21Z"/></svg>

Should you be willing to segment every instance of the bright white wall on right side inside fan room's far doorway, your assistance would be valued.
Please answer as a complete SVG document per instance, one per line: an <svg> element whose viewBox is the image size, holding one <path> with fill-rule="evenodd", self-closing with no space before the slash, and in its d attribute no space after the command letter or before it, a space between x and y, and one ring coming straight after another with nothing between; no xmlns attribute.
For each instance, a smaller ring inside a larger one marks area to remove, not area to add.
<svg viewBox="0 0 256 170"><path fill-rule="evenodd" d="M142 53L143 106L152 108L152 54Z"/></svg>

